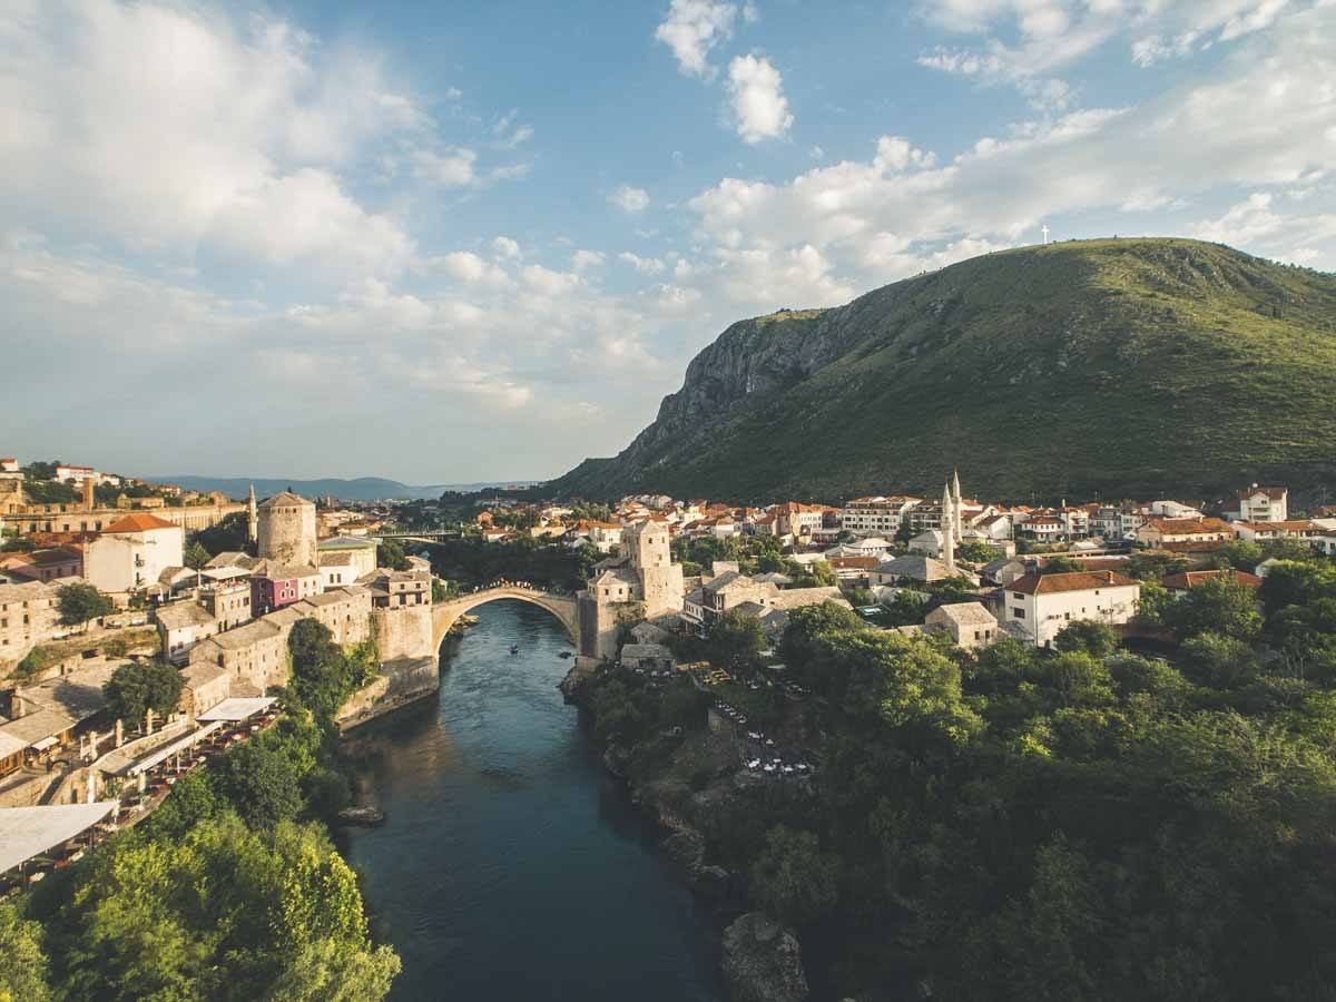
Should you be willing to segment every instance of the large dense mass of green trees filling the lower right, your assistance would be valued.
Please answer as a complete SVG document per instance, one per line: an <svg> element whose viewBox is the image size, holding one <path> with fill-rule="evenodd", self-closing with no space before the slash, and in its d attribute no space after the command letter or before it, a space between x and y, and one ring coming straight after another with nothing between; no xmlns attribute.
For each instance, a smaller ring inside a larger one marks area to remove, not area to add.
<svg viewBox="0 0 1336 1002"><path fill-rule="evenodd" d="M1331 998L1336 566L1277 565L1265 619L1253 597L1174 601L1172 660L1098 624L969 656L798 611L816 795L737 804L751 838L716 848L832 993Z"/></svg>

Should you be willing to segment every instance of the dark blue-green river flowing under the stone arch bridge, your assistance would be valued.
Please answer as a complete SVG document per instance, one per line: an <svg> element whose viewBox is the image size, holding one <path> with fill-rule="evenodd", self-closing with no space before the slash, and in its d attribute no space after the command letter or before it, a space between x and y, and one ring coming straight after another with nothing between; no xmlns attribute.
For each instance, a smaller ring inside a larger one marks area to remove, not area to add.
<svg viewBox="0 0 1336 1002"><path fill-rule="evenodd" d="M391 998L717 1002L708 922L556 689L561 624L518 601L474 615L438 699L347 743L387 816L346 848L403 958Z"/></svg>

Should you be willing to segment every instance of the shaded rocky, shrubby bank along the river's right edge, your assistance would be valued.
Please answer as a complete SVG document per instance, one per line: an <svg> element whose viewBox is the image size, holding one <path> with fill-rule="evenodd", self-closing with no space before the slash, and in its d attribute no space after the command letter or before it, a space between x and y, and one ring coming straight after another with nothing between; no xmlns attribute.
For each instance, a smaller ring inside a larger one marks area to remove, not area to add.
<svg viewBox="0 0 1336 1002"><path fill-rule="evenodd" d="M631 672L572 668L564 699L601 751L607 771L625 783L637 810L661 832L660 850L707 908L719 941L719 963L733 1002L803 1002L810 997L796 935L748 910L748 875L739 872L756 799L812 800L806 778L782 786L747 768L747 741L708 705L685 677L647 683ZM652 689L652 691L651 691ZM647 708L659 719L645 725ZM635 708L627 715L627 705ZM628 716L639 716L640 727ZM771 804L771 808L774 804ZM760 832L751 832L760 838ZM724 848L732 843L732 850ZM723 850L723 851L720 851ZM732 867L732 868L731 868Z"/></svg>

